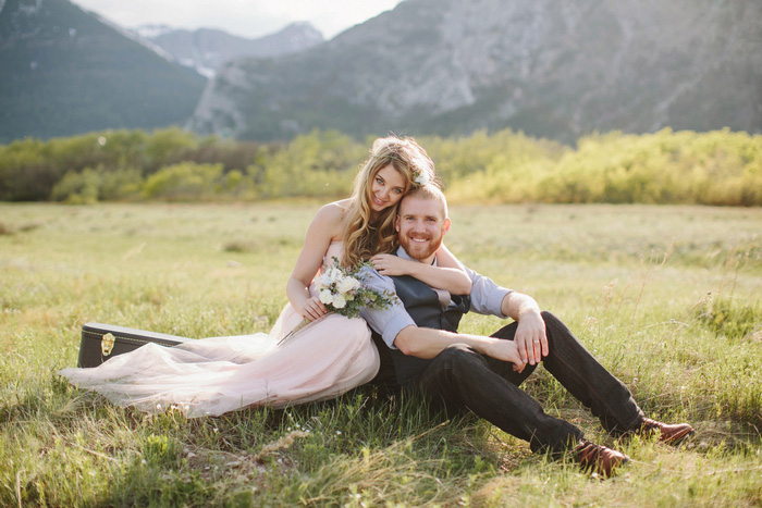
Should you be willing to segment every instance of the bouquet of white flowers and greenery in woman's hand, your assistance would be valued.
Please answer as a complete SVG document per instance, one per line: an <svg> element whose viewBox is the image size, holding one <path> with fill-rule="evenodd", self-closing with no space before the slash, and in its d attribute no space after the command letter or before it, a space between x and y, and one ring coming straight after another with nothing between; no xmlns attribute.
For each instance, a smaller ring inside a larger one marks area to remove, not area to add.
<svg viewBox="0 0 762 508"><path fill-rule="evenodd" d="M362 272L368 269L372 270L373 267L370 263L365 262L346 268L339 264L335 257L332 259L334 264L329 267L327 262L323 263L322 273L315 280L315 286L319 292L318 298L330 312L346 318L357 318L360 315L362 307L385 309L397 298L393 293L379 293L364 285ZM296 332L314 322L305 318L278 344L283 344Z"/></svg>

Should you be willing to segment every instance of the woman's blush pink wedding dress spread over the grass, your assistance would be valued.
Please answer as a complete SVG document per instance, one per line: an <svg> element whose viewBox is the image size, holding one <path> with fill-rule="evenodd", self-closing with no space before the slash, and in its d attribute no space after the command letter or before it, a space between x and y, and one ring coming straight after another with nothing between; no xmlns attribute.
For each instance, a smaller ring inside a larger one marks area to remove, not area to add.
<svg viewBox="0 0 762 508"><path fill-rule="evenodd" d="M331 243L325 258L341 252L341 243ZM189 418L324 400L373 379L379 352L364 320L330 313L279 345L302 321L288 303L269 334L148 344L96 368L59 373L119 406L146 412L172 407Z"/></svg>

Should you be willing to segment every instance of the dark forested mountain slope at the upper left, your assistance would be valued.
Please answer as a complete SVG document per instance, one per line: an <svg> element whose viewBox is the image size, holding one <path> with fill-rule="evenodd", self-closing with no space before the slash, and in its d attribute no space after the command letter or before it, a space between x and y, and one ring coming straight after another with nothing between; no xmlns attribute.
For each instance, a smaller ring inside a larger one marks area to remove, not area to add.
<svg viewBox="0 0 762 508"><path fill-rule="evenodd" d="M0 143L183 124L206 78L67 0L0 0Z"/></svg>

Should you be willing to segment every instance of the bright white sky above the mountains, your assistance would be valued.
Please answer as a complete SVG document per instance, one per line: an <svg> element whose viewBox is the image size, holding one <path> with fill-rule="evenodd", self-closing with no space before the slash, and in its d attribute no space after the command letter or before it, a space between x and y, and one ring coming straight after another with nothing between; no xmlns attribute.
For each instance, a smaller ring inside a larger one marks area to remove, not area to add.
<svg viewBox="0 0 762 508"><path fill-rule="evenodd" d="M244 37L272 34L308 21L327 39L393 9L401 0L72 0L132 28L165 24L177 28L220 28Z"/></svg>

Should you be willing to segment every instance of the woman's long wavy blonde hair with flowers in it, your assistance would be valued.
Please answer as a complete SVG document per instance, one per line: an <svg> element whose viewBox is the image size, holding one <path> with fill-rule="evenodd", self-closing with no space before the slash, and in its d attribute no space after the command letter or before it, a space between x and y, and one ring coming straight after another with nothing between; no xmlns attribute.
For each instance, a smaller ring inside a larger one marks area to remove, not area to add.
<svg viewBox="0 0 762 508"><path fill-rule="evenodd" d="M390 136L373 141L370 157L355 177L345 223L342 263L347 267L367 261L377 253L392 252L397 247L394 219L398 201L382 210L374 223L370 222L373 178L390 164L405 181L405 194L414 187L435 183L434 163L415 139Z"/></svg>

